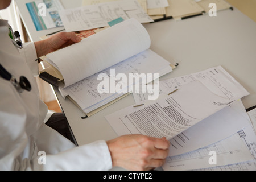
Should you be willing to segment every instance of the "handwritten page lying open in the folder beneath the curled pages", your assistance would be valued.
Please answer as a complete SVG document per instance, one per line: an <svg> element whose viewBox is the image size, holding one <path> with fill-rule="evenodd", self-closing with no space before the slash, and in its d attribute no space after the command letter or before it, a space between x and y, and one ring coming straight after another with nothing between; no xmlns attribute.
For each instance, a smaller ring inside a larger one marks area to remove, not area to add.
<svg viewBox="0 0 256 182"><path fill-rule="evenodd" d="M158 60L159 64L155 65L155 60ZM144 67L145 64L147 67ZM59 90L64 98L66 96L72 97L85 113L89 113L99 106L107 104L123 95L123 93L115 92L99 94L97 91L98 85L102 82L102 80L98 80L98 75L100 73L106 74L108 77L113 77L113 75L117 75L118 73L126 75L129 75L129 73L138 73L139 75L141 73L159 73L159 76L163 76L166 73L172 72L172 68L168 65L170 65L168 61L164 60L159 55L156 55L156 53L150 49L147 49L146 51L138 53L125 61L121 61L110 68L104 69L68 86L67 88L60 88ZM129 85L127 86L129 87ZM119 91L120 90L118 90L118 92Z"/></svg>

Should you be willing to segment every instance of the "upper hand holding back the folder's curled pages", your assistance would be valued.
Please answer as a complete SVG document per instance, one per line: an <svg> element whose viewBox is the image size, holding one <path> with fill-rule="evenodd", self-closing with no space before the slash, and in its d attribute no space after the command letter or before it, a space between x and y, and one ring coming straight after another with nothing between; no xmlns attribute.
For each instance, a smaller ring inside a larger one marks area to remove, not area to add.
<svg viewBox="0 0 256 182"><path fill-rule="evenodd" d="M46 40L35 42L36 53L38 57L47 53L67 47L71 44L80 42L81 39L74 32L59 32Z"/></svg>

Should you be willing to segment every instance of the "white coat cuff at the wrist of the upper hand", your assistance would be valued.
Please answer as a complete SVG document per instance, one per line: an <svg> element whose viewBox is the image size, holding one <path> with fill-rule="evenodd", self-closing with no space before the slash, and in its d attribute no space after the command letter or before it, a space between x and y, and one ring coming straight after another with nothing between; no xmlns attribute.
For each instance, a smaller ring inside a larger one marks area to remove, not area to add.
<svg viewBox="0 0 256 182"><path fill-rule="evenodd" d="M23 43L23 48L19 49L20 55L26 60L28 67L30 68L32 75L34 77L38 77L39 69L38 69L38 59L36 55L35 44L33 42Z"/></svg>

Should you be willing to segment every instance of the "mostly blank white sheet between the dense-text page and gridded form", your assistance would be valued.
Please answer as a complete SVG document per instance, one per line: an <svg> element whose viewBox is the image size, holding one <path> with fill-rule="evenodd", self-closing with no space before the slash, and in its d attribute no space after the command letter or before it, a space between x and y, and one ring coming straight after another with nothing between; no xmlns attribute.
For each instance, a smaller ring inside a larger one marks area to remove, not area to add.
<svg viewBox="0 0 256 182"><path fill-rule="evenodd" d="M239 110L238 107L240 107ZM228 107L189 127L189 129L170 139L169 156L184 154L208 146L249 126L250 119L241 112L246 114L242 101L235 101Z"/></svg>

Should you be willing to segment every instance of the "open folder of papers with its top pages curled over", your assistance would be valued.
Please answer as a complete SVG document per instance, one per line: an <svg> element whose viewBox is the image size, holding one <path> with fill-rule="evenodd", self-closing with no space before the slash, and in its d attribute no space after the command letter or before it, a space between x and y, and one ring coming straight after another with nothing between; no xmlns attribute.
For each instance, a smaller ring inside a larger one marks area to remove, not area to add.
<svg viewBox="0 0 256 182"><path fill-rule="evenodd" d="M118 73L128 78L133 73L138 76L158 73L160 77L172 72L170 62L151 51L150 44L150 36L142 24L129 19L42 57L49 67L39 77L59 87L64 98L69 96L89 116L125 96L133 86L127 82L127 88L123 88L126 93L115 92L118 90L99 93L102 80L112 80ZM106 78L98 79L100 74Z"/></svg>

